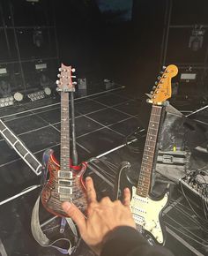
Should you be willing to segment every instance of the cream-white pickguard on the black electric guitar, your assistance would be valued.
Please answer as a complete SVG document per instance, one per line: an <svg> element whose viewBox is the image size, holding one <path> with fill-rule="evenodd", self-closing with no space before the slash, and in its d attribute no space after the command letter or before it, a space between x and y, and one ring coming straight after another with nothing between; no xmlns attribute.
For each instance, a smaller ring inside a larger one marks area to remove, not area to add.
<svg viewBox="0 0 208 256"><path fill-rule="evenodd" d="M132 187L132 199L130 201L130 209L134 221L149 231L152 236L160 243L164 243L164 237L160 226L160 211L166 206L168 196L167 193L161 200L151 200L149 197L143 198L136 194L137 188Z"/></svg>

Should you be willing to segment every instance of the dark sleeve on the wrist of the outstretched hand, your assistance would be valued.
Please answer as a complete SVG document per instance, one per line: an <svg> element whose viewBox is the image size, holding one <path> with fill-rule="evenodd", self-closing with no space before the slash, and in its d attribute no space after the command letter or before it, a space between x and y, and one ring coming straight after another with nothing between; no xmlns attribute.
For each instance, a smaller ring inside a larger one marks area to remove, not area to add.
<svg viewBox="0 0 208 256"><path fill-rule="evenodd" d="M100 256L174 256L166 248L149 245L139 232L131 227L119 227L112 231Z"/></svg>

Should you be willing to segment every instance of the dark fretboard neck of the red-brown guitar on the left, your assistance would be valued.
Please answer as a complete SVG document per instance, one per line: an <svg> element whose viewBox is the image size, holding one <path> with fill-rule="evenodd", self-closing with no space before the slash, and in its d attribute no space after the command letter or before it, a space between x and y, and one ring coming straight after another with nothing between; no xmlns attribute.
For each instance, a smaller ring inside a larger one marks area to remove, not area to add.
<svg viewBox="0 0 208 256"><path fill-rule="evenodd" d="M61 92L61 171L70 170L69 93Z"/></svg>

